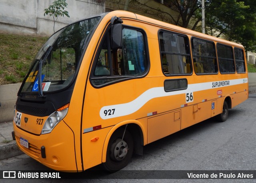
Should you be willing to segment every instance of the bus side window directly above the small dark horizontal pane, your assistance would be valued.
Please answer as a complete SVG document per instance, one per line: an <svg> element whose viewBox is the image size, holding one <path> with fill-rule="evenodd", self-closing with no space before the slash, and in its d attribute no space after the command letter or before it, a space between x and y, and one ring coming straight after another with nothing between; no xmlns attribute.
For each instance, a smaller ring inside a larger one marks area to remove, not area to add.
<svg viewBox="0 0 256 183"><path fill-rule="evenodd" d="M162 71L165 75L190 74L188 38L169 32L159 32Z"/></svg>

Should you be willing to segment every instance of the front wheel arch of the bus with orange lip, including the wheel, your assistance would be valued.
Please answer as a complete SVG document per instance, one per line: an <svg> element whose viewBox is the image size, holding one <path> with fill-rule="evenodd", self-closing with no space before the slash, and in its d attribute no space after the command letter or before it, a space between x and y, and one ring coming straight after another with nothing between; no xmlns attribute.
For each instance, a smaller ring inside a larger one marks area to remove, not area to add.
<svg viewBox="0 0 256 183"><path fill-rule="evenodd" d="M114 126L109 131L103 146L102 164L104 168L111 172L117 171L130 162L133 153L142 155L143 135L143 130L136 123L122 122ZM121 141L122 145L120 147Z"/></svg>

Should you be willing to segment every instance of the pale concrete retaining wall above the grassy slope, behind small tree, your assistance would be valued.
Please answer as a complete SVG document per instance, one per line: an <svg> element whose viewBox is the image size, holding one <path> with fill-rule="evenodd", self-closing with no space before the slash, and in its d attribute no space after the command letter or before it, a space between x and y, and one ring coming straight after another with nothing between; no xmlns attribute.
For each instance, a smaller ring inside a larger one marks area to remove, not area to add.
<svg viewBox="0 0 256 183"><path fill-rule="evenodd" d="M0 0L0 32L23 35L50 36L53 31L52 16L45 15L54 0ZM82 18L105 12L105 5L95 0L66 0L70 18L58 17L55 32L60 28ZM103 2L103 1L102 1Z"/></svg>

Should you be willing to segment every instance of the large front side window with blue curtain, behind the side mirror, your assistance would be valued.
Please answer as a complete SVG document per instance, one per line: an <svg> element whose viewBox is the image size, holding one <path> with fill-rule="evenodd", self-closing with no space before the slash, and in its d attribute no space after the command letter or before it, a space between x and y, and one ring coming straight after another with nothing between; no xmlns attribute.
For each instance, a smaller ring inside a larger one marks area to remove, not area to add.
<svg viewBox="0 0 256 183"><path fill-rule="evenodd" d="M123 28L122 48L112 50L106 34L96 58L91 76L96 86L142 76L148 69L145 36L138 30Z"/></svg>

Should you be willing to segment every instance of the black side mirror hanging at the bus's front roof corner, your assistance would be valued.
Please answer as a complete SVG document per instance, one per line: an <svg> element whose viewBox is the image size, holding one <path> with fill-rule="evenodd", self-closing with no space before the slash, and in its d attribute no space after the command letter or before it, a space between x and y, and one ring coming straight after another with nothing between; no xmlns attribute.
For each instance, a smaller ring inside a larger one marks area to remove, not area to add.
<svg viewBox="0 0 256 183"><path fill-rule="evenodd" d="M122 19L116 16L111 18L111 48L112 50L122 47Z"/></svg>

